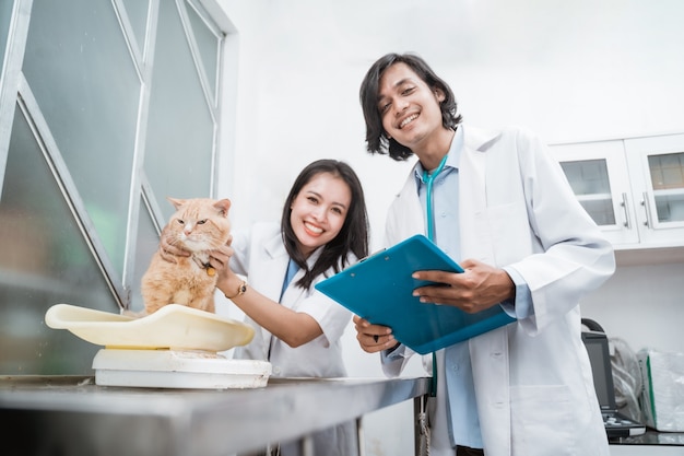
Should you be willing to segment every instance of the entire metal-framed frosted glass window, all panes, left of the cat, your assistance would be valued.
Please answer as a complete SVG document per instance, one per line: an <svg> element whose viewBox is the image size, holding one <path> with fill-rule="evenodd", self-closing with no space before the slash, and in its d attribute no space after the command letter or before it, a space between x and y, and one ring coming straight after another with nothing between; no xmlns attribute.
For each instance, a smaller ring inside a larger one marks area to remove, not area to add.
<svg viewBox="0 0 684 456"><path fill-rule="evenodd" d="M13 28L14 3L0 0L0 61L8 43L17 51L26 44L26 84L10 93L10 106L22 98L14 116L0 119L9 148L0 179L0 374L92 375L99 347L48 328L45 313L58 303L110 313L120 304L143 308L140 281L163 221L142 202L142 186L152 186L166 218L167 195L211 196L220 107L205 91L219 93L223 35L194 0L198 10L181 0L30 0L28 27ZM192 22L201 71L178 8ZM135 70L140 55L132 49L131 56L117 12L141 52L148 14L158 13L156 46L146 49L150 71ZM137 142L142 138L144 144ZM73 208L64 189L73 191ZM73 211L93 222L86 225L94 245Z"/></svg>

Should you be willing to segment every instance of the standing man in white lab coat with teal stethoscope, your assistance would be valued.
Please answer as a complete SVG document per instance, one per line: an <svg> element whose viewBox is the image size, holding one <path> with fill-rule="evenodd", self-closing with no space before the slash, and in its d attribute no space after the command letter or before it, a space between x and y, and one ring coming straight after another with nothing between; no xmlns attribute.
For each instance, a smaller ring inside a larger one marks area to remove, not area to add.
<svg viewBox="0 0 684 456"><path fill-rule="evenodd" d="M418 159L390 207L386 243L424 233L465 269L416 271L449 287L414 294L517 318L436 353L429 454L608 455L579 300L611 277L614 255L557 162L523 130L463 125L451 89L417 56L377 60L361 102L370 153ZM354 321L361 347L399 375L411 350L390 328Z"/></svg>

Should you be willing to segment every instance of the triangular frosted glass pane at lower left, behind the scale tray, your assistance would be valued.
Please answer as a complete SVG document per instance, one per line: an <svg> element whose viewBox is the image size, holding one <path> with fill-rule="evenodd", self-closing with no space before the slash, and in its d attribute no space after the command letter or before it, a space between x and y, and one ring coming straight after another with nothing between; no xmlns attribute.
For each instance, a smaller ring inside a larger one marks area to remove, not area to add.
<svg viewBox="0 0 684 456"><path fill-rule="evenodd" d="M43 152L17 109L0 200L0 373L91 374L99 349L48 328L59 303L118 312Z"/></svg>

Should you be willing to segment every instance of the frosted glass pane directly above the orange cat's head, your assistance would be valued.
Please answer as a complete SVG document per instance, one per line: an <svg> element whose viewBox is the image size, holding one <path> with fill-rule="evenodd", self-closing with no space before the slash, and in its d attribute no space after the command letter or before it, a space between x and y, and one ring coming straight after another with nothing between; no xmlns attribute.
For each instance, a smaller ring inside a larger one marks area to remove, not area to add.
<svg viewBox="0 0 684 456"><path fill-rule="evenodd" d="M172 1L160 3L144 168L166 218L166 197L211 194L214 124Z"/></svg>

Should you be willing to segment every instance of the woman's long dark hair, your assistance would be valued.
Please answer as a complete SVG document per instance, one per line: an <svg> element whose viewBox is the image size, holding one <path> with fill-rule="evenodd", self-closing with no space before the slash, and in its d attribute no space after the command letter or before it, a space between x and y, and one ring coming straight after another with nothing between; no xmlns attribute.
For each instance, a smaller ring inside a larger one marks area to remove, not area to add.
<svg viewBox="0 0 684 456"><path fill-rule="evenodd" d="M314 264L314 267L309 270L306 258L297 248L297 236L292 229L290 214L292 212L292 202L302 188L321 173L330 173L334 177L340 177L344 180L352 192L352 201L340 233L323 246L320 257L318 257L316 264ZM335 273L340 272L341 268L349 261L347 255L350 252L353 253L356 258L366 257L368 255L368 213L366 212L364 190L354 169L346 163L337 160L318 160L302 169L302 173L299 173L295 179L290 195L285 200L283 217L281 219L281 232L290 258L292 258L299 268L306 271L304 277L296 283L303 289L309 289L314 279L331 267Z"/></svg>

